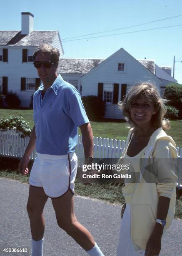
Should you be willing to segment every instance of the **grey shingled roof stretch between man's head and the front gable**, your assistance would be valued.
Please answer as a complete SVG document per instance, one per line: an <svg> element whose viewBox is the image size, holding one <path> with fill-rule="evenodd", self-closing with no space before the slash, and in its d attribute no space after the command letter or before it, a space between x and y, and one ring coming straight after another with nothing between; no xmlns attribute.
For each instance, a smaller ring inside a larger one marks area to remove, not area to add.
<svg viewBox="0 0 182 256"><path fill-rule="evenodd" d="M58 73L87 74L97 67L104 59L66 59L61 58L57 68Z"/></svg>

